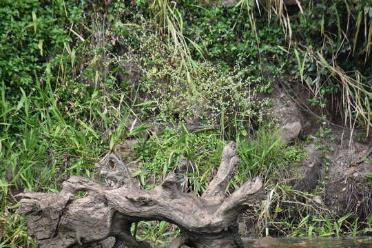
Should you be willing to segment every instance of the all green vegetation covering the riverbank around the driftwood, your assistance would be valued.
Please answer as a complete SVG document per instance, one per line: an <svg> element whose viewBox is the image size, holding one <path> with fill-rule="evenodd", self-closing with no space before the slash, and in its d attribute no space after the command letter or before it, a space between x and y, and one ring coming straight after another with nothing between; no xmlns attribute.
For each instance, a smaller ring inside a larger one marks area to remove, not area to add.
<svg viewBox="0 0 372 248"><path fill-rule="evenodd" d="M371 234L371 173L347 213L318 200L327 155L316 189L293 187L304 147L331 149L332 124L370 141L370 1L4 0L0 20L0 247L34 246L14 212L23 189L97 178L116 153L143 189L186 160L184 190L202 194L228 141L241 161L226 192L266 182L249 234ZM278 89L317 132L282 141L267 117ZM137 234L158 243L178 230L143 222Z"/></svg>

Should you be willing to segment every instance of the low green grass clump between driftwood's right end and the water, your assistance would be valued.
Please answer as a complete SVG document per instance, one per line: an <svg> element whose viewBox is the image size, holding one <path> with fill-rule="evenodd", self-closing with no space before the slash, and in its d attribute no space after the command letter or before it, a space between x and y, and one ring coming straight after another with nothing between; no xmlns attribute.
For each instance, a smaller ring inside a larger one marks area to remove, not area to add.
<svg viewBox="0 0 372 248"><path fill-rule="evenodd" d="M273 187L261 209L265 219L262 225L270 234L291 237L358 236L369 231L370 225L360 226L356 212L339 216L319 201L315 194Z"/></svg>

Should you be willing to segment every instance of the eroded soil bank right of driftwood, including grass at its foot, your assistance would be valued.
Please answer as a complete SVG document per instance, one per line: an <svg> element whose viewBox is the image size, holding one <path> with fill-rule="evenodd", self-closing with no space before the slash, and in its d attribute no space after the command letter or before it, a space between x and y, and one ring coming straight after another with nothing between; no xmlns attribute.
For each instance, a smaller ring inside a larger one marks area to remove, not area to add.
<svg viewBox="0 0 372 248"><path fill-rule="evenodd" d="M267 198L273 211L267 216L271 222L267 225L273 228L270 234L286 234L293 220L315 230L331 218L338 219L340 226L323 229L326 235L340 234L343 228L356 230L371 219L372 136L366 136L365 130L350 130L342 123L320 118L318 110L300 103L298 99L304 98L301 92L296 93L297 100L288 90L277 87L268 96L274 103L268 107L268 116L275 120L282 141L302 143L302 152L307 154L291 173L272 178L271 183L291 189L271 187ZM254 236L263 231L260 220L254 223L248 220L252 215L247 216L240 223L242 234ZM341 227L343 222L349 226ZM311 231L302 234L311 236Z"/></svg>

